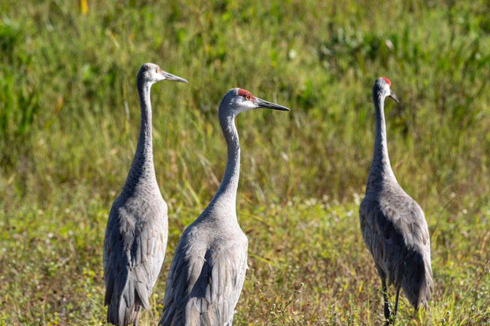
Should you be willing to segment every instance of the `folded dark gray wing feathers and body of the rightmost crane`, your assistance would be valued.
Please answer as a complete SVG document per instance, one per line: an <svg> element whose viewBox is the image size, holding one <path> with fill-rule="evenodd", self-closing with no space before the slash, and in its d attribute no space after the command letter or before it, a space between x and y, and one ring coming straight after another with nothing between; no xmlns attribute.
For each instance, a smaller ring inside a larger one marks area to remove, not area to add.
<svg viewBox="0 0 490 326"><path fill-rule="evenodd" d="M413 307L426 304L432 271L429 231L420 206L406 194L366 195L359 219L364 242L388 285L402 286Z"/></svg>

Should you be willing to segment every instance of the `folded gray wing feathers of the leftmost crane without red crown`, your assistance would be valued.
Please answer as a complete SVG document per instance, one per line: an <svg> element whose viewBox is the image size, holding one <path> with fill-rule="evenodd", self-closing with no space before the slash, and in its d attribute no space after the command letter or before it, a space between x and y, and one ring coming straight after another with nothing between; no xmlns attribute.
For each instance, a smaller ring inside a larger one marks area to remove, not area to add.
<svg viewBox="0 0 490 326"><path fill-rule="evenodd" d="M142 218L137 209L115 208L117 203L109 213L104 239L104 303L109 322L127 325L136 318L137 305L150 309L149 299L165 255L167 224L163 209L157 217ZM156 214L155 210L143 211Z"/></svg>

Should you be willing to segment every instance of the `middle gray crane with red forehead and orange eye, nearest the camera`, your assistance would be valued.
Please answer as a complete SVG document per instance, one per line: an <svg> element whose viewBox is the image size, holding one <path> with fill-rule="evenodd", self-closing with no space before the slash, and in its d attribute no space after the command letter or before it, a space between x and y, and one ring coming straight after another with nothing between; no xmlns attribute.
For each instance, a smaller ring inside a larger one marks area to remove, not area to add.
<svg viewBox="0 0 490 326"><path fill-rule="evenodd" d="M289 111L238 88L229 90L219 105L219 124L228 151L225 175L209 205L177 244L159 325L232 325L248 268L248 240L236 218L240 143L235 116L259 107Z"/></svg>

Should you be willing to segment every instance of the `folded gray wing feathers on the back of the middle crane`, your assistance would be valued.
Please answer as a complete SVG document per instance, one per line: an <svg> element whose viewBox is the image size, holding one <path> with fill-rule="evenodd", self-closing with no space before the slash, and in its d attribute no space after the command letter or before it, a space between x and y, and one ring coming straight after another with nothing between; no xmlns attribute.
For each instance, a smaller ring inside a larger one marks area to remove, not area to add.
<svg viewBox="0 0 490 326"><path fill-rule="evenodd" d="M179 241L170 267L159 325L225 325L243 286L247 240L243 235L203 246L187 236Z"/></svg>

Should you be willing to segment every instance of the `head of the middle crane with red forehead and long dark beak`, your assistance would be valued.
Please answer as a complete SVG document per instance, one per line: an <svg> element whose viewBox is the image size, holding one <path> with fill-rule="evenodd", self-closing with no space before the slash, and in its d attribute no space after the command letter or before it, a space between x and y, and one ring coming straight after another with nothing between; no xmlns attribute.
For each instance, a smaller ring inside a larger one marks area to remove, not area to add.
<svg viewBox="0 0 490 326"><path fill-rule="evenodd" d="M289 108L285 106L255 97L249 91L241 88L232 88L225 94L222 105L220 105L220 110L225 106L228 107L234 115L243 111L253 110L254 108L271 108L272 110L290 111Z"/></svg>

